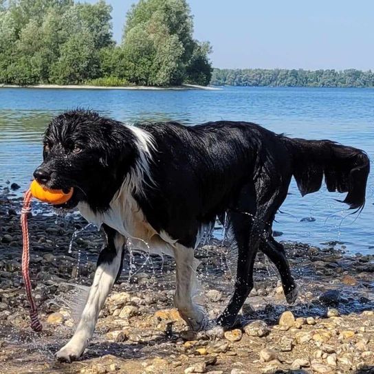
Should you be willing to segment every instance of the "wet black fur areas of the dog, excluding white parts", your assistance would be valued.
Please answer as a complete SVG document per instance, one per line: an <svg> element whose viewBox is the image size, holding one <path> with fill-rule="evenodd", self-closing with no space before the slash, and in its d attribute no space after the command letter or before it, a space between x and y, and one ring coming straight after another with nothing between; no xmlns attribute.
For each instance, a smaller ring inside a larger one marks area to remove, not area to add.
<svg viewBox="0 0 374 374"><path fill-rule="evenodd" d="M348 192L344 203L362 208L369 158L360 149L329 140L292 139L249 122L218 121L183 126L177 122L139 124L151 134L152 183L133 193L146 220L186 247L195 245L203 223L227 217L239 251L234 294L219 323L230 326L253 287L253 265L262 250L278 268L287 300L295 283L283 246L272 237L276 211L292 176L302 195L319 190ZM134 133L93 111L68 111L45 132L44 161L35 177L49 188L74 187L63 208L86 201L104 211L134 166L139 151ZM251 215L247 214L250 213ZM105 229L109 243L111 230ZM112 245L110 245L110 248ZM112 249L99 261L110 261ZM115 253L115 252L114 252Z"/></svg>

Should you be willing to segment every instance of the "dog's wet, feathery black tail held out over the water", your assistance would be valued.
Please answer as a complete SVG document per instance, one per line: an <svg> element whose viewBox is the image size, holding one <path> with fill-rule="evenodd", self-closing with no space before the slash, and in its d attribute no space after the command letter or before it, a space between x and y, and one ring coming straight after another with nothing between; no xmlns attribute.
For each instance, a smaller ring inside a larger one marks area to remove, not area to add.
<svg viewBox="0 0 374 374"><path fill-rule="evenodd" d="M330 140L304 140L283 137L292 154L293 175L301 195L320 189L322 178L329 192L348 192L343 203L351 209L365 203L369 157L358 148Z"/></svg>

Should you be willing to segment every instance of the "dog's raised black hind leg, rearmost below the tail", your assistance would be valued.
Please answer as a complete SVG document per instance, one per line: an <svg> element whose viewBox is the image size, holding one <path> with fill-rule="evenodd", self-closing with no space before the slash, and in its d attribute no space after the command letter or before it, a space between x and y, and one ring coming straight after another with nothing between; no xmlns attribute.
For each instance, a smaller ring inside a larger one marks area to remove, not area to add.
<svg viewBox="0 0 374 374"><path fill-rule="evenodd" d="M289 270L285 248L270 235L267 240L261 242L260 250L276 265L281 275L283 292L285 293L287 303L294 303L298 297L298 286L291 275L291 270Z"/></svg>

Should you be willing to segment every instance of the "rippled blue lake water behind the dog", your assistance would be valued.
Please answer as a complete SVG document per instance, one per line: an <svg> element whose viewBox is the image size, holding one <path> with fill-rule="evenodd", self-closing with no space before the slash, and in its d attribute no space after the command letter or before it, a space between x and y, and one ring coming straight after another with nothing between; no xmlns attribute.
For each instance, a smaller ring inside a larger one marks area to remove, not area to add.
<svg viewBox="0 0 374 374"><path fill-rule="evenodd" d="M224 87L217 91L119 91L85 89L0 89L0 185L28 188L41 162L41 138L53 115L76 107L100 111L123 122L245 120L307 139L331 139L362 148L374 159L374 89ZM373 168L373 166L372 166ZM374 252L374 177L366 206L350 214L321 190L290 195L276 216L282 240L320 245L340 241L351 252ZM342 196L340 196L342 197ZM313 217L314 221L301 221Z"/></svg>

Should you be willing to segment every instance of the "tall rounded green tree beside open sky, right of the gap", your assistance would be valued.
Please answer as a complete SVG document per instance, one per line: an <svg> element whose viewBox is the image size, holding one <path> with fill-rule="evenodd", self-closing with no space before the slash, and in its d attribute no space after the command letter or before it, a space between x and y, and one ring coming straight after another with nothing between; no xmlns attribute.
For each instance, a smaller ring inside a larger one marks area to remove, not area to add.
<svg viewBox="0 0 374 374"><path fill-rule="evenodd" d="M192 32L185 0L140 0L124 26L125 78L144 85L208 84L210 48L195 41Z"/></svg>

